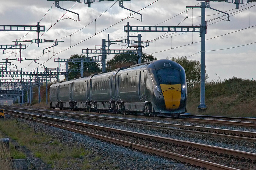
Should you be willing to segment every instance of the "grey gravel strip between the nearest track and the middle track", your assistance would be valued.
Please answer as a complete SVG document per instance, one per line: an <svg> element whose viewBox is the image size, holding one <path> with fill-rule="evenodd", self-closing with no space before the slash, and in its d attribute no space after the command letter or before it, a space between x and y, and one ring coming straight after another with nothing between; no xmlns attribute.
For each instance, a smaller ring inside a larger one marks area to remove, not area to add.
<svg viewBox="0 0 256 170"><path fill-rule="evenodd" d="M44 115L44 116L59 118L58 116L53 116L53 115ZM155 129L155 128L151 128L143 125L130 126L128 124L122 124L122 123L109 124L107 122L77 120L77 119L67 118L67 117L62 117L62 119L70 120L70 121L79 121L82 123L94 124L98 126L112 127L112 128L122 129L126 131L134 131L138 133L151 134L151 135L162 136L166 138L179 139L183 141L191 141L191 142L196 142L201 144L218 146L222 148L229 148L229 149L256 153L256 142L248 142L248 141L226 139L226 138L216 138L216 137L211 137L207 135L190 134L190 133L171 131L171 130L161 130L161 129ZM226 128L226 126L224 128Z"/></svg>

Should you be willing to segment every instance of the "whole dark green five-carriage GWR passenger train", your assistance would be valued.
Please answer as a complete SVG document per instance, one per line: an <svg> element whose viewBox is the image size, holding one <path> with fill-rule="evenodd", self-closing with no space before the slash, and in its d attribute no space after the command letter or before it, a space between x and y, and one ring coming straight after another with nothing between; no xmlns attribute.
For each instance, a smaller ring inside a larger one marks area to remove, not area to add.
<svg viewBox="0 0 256 170"><path fill-rule="evenodd" d="M149 116L185 113L184 68L172 60L154 60L50 86L53 109L87 110Z"/></svg>

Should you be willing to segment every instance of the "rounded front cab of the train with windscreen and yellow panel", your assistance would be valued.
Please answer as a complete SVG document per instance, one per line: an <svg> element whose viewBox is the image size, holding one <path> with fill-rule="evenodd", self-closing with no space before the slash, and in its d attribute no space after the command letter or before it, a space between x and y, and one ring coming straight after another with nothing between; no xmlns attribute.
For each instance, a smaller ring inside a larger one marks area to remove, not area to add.
<svg viewBox="0 0 256 170"><path fill-rule="evenodd" d="M159 86L158 104L155 111L177 116L185 113L187 103L187 83L184 68L171 60L155 63ZM160 90L161 89L161 90Z"/></svg>

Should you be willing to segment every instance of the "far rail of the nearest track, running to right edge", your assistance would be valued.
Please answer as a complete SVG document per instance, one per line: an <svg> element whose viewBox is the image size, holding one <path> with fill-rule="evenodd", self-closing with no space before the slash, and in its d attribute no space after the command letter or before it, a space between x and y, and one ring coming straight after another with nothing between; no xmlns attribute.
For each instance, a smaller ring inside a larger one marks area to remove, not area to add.
<svg viewBox="0 0 256 170"><path fill-rule="evenodd" d="M44 117L44 116L27 114L27 113L22 113L22 112L17 112L17 111L11 111L11 112L14 112L17 114L24 114L24 115L32 116L32 117L43 118L43 119L47 119L47 120L51 120L51 121L58 121L58 122L62 122L62 123L74 124L74 125L79 125L79 126L83 126L83 127L96 128L96 129L100 129L100 130L104 130L104 131L107 130L107 131L112 131L112 132L116 132L116 133L127 134L130 136L148 138L148 139L152 139L155 141L162 141L165 143L169 143L169 144L171 143L171 144L175 144L175 145L179 145L179 146L188 146L188 147L199 149L199 150L213 151L213 152L217 152L217 153L223 154L223 155L225 155L225 154L233 155L234 157L245 158L245 159L250 159L252 161L256 161L256 154L251 153L251 152L238 151L238 150L234 150L234 149L221 148L221 147L217 147L217 146L199 144L199 143L190 142L190 141L182 141L182 140L178 140L178 139L165 138L165 137L160 137L160 136L155 136L155 135L150 135L150 134L142 134L142 133L137 133L137 132L132 132L132 131L126 131L126 130L92 125L92 124L86 124L86 123L75 122L75 121L67 121L67 120L63 120L63 119ZM5 113L6 113L6 111L5 111ZM9 113L9 111L6 114L8 114L8 113Z"/></svg>

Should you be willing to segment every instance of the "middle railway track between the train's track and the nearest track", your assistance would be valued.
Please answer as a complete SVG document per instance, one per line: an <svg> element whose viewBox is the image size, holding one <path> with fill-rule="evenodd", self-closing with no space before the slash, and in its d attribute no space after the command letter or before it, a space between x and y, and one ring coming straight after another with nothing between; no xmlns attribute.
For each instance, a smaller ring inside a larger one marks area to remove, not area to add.
<svg viewBox="0 0 256 170"><path fill-rule="evenodd" d="M256 142L256 132L249 132L249 131L237 131L237 130L220 129L220 128L213 128L213 127L169 124L169 123L161 123L161 122L153 122L153 121L133 120L133 119L127 119L127 118L122 119L122 118L115 118L115 117L104 117L104 116L63 113L63 112L53 112L53 111L45 112L42 110L30 110L30 109L23 109L23 110L33 111L39 114L69 116L69 117L74 117L79 119L89 119L89 120L95 120L95 121L107 121L107 122L111 121L111 122L117 122L117 123L137 124L137 125L139 124L139 125L163 129L163 130L180 131L185 133L202 134L202 135L209 135L213 137ZM6 110L6 111L11 111L11 110Z"/></svg>

